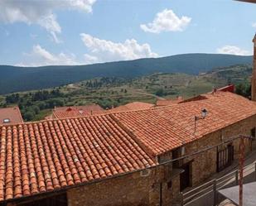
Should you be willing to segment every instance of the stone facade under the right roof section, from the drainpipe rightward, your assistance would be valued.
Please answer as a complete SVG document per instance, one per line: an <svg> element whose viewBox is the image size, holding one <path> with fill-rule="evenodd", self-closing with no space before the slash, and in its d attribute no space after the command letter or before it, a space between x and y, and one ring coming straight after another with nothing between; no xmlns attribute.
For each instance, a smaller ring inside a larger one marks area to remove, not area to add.
<svg viewBox="0 0 256 206"><path fill-rule="evenodd" d="M241 122L237 122L233 125L225 127L219 131L212 132L205 135L205 137L200 138L197 141L193 141L185 146L185 156L196 151L200 151L207 146L215 146L220 144L220 142L234 137L239 134L244 134L250 136L251 129L256 127L256 116L249 117ZM245 151L248 155L252 148L251 140L244 140ZM253 141L253 145L256 141ZM227 145L227 144L226 144ZM233 141L234 145L234 159L239 158L239 139ZM160 161L171 160L171 151L167 152L163 156L158 158ZM214 148L210 151L205 151L196 156L191 156L185 160L181 160L181 163L186 164L191 161L191 186L200 184L204 180L210 178L211 175L216 173L217 170L217 149ZM171 205L176 202L180 194L180 175L176 175L171 180L171 189L167 188L167 180L163 182L163 205ZM178 197L178 198L177 198Z"/></svg>

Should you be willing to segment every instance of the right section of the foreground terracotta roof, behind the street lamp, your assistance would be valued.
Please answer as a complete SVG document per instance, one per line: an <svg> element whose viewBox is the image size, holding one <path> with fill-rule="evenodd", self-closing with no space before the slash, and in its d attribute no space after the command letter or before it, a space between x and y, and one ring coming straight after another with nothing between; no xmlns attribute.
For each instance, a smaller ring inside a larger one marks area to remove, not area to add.
<svg viewBox="0 0 256 206"><path fill-rule="evenodd" d="M200 117L203 108L208 115L196 122L195 133L195 116ZM216 92L186 103L113 115L157 156L255 114L256 103L234 93Z"/></svg>

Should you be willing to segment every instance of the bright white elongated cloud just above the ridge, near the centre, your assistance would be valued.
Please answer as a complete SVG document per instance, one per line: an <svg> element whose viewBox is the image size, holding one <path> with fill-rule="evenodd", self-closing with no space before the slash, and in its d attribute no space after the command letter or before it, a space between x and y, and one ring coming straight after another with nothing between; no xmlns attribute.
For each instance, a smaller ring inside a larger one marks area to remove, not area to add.
<svg viewBox="0 0 256 206"><path fill-rule="evenodd" d="M82 41L90 51L85 58L98 62L115 60L134 60L139 58L157 57L157 53L152 52L148 44L139 45L134 39L126 40L123 43L106 41L89 34L80 34ZM97 58L97 59L96 59Z"/></svg>

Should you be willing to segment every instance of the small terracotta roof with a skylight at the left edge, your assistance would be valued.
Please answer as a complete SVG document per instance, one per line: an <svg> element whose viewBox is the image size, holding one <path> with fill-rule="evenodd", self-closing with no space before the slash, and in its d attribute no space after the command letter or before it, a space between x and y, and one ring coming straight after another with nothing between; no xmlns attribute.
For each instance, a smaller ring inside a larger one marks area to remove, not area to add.
<svg viewBox="0 0 256 206"><path fill-rule="evenodd" d="M18 107L0 108L0 125L22 123L22 114Z"/></svg>

